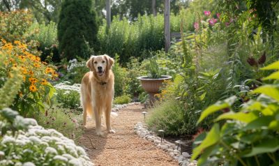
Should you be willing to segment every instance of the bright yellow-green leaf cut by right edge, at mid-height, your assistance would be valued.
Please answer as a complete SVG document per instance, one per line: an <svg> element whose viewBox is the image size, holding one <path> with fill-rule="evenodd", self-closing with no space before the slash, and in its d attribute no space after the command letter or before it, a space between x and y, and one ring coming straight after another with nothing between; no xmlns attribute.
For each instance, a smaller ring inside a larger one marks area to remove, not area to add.
<svg viewBox="0 0 279 166"><path fill-rule="evenodd" d="M263 93L266 96L274 98L279 101L279 87L276 85L266 84L264 86L259 86L253 91L254 93Z"/></svg>

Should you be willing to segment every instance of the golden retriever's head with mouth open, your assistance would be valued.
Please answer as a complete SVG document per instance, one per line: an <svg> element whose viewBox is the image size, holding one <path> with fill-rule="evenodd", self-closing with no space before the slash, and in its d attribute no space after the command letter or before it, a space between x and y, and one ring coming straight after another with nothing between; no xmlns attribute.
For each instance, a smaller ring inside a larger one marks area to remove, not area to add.
<svg viewBox="0 0 279 166"><path fill-rule="evenodd" d="M86 62L86 65L91 71L96 73L98 77L102 77L106 71L112 68L114 59L112 59L107 54L91 56L91 58Z"/></svg>

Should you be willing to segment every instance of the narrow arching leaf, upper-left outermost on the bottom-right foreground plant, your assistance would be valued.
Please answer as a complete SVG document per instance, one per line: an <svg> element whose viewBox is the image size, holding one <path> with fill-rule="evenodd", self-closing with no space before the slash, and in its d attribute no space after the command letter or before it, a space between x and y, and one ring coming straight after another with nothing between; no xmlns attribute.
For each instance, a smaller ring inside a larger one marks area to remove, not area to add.
<svg viewBox="0 0 279 166"><path fill-rule="evenodd" d="M204 120L206 116L209 116L209 114L213 114L214 112L230 107L235 100L236 100L236 96L232 96L230 98L227 98L224 101L218 101L214 105L207 107L206 110L202 112L201 116L199 116L199 120L197 121L197 123Z"/></svg>

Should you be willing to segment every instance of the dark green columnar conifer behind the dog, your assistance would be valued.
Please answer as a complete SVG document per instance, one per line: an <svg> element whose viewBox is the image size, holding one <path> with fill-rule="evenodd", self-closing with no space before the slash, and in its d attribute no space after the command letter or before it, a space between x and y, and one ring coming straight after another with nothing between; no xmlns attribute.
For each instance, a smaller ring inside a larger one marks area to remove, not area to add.
<svg viewBox="0 0 279 166"><path fill-rule="evenodd" d="M65 0L57 25L59 52L62 57L88 58L96 51L98 24L91 0Z"/></svg>

